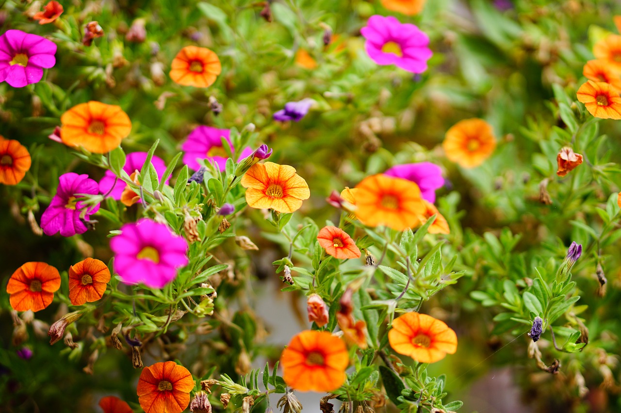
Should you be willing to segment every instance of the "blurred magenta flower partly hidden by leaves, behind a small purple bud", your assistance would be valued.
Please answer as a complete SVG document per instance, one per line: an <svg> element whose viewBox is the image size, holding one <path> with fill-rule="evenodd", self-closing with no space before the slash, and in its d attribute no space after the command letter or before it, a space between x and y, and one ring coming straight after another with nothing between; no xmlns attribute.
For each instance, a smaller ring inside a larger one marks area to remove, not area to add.
<svg viewBox="0 0 621 413"><path fill-rule="evenodd" d="M203 125L194 128L188 135L188 140L181 145L181 150L185 151L183 163L188 165L193 171L198 171L201 169L201 166L196 159L210 159L218 164L220 171L224 171L228 156L222 146L222 137L224 137L224 139L229 142L229 146L233 148L230 139L230 130ZM252 149L244 148L242 153L239 154L237 162L250 154L252 154Z"/></svg>

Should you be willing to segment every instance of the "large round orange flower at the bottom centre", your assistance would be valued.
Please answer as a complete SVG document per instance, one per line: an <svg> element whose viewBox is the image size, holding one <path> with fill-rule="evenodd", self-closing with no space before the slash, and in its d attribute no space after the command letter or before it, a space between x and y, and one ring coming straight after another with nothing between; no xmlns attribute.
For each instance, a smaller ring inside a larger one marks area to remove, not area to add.
<svg viewBox="0 0 621 413"><path fill-rule="evenodd" d="M280 364L284 382L291 388L327 392L345 382L349 355L338 337L326 331L306 330L291 339Z"/></svg>

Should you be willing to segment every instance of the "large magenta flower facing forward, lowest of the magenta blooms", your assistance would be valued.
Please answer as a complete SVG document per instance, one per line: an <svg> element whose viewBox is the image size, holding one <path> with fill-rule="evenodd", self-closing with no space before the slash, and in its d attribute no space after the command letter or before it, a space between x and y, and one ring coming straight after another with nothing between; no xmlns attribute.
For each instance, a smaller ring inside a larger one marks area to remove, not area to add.
<svg viewBox="0 0 621 413"><path fill-rule="evenodd" d="M142 218L125 224L112 238L114 270L126 284L143 283L162 288L177 276L177 269L188 264L188 243L171 233L166 224Z"/></svg>

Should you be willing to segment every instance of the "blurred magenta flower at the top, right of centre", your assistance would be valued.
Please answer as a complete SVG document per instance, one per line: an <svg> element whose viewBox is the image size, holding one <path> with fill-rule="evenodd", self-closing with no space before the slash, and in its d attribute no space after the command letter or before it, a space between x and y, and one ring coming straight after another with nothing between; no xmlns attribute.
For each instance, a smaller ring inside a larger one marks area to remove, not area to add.
<svg viewBox="0 0 621 413"><path fill-rule="evenodd" d="M396 64L412 73L427 70L433 53L427 47L429 38L415 25L376 14L369 17L360 33L366 38L366 53L375 63Z"/></svg>

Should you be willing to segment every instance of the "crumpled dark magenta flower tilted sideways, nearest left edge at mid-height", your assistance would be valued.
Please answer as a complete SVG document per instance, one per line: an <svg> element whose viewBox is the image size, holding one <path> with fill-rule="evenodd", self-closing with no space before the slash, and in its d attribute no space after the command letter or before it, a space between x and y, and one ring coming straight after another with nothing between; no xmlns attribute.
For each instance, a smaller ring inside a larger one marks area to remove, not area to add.
<svg viewBox="0 0 621 413"><path fill-rule="evenodd" d="M41 216L41 228L46 235L53 235L58 231L63 237L83 234L88 228L80 219L80 215L86 206L81 201L76 202L76 198L81 197L81 194L97 195L99 185L93 179L89 179L88 175L73 172L60 175L58 180L60 182L56 195ZM84 221L88 221L90 215L97 210L99 210L98 203L86 211Z"/></svg>

